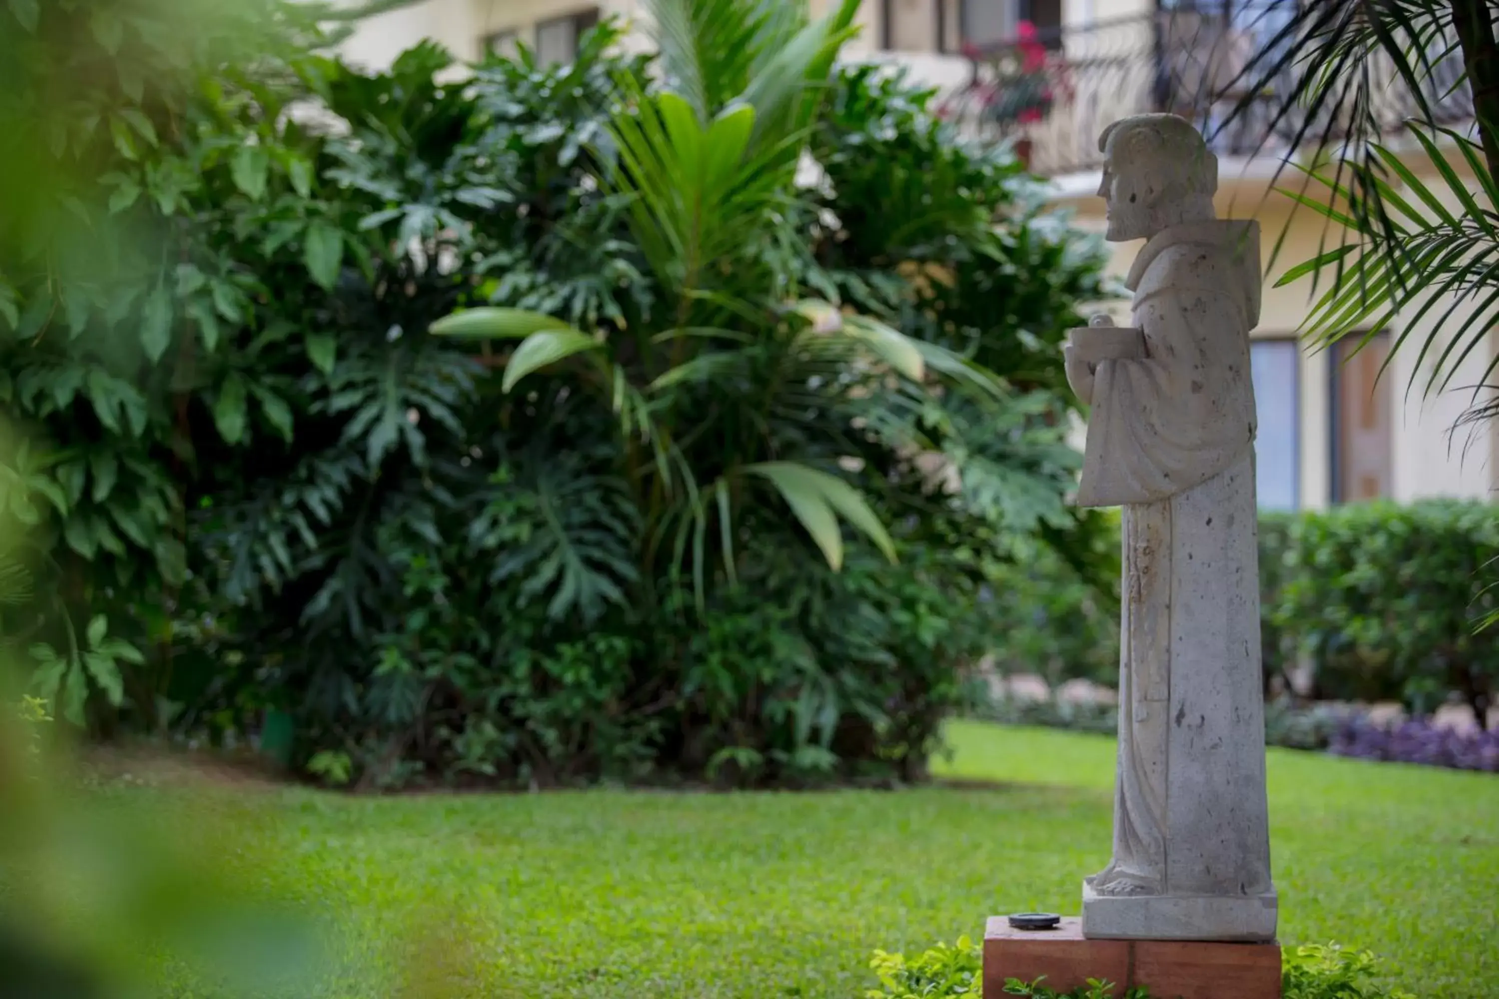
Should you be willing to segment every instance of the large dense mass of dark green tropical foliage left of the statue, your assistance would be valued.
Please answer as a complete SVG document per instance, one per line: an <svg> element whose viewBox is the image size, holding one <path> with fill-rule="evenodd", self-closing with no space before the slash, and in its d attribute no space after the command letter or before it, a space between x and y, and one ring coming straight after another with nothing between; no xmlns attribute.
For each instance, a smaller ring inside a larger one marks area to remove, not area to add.
<svg viewBox="0 0 1499 999"><path fill-rule="evenodd" d="M654 6L652 55L382 73L316 4L0 7L0 635L63 723L919 779L1006 574L1112 575L1057 364L1097 249L838 67L854 3Z"/></svg>

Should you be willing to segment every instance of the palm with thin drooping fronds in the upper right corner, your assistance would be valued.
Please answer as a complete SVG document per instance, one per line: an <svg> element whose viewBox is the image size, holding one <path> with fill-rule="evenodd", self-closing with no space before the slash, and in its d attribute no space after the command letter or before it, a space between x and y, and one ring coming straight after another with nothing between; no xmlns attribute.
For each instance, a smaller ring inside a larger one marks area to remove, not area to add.
<svg viewBox="0 0 1499 999"><path fill-rule="evenodd" d="M1423 391L1445 391L1499 321L1499 3L1303 0L1291 18L1285 7L1261 10L1280 27L1267 27L1268 43L1229 84L1244 96L1219 124L1264 114L1268 97L1267 139L1294 135L1294 148L1312 151L1297 168L1303 183L1283 193L1328 226L1319 253L1279 283L1312 276L1306 333L1322 346L1361 334L1361 347L1399 315L1391 356L1418 350ZM1451 102L1468 96L1472 127L1453 127ZM1436 178L1408 166L1417 151ZM1496 364L1469 386L1466 421L1499 415L1483 398Z"/></svg>

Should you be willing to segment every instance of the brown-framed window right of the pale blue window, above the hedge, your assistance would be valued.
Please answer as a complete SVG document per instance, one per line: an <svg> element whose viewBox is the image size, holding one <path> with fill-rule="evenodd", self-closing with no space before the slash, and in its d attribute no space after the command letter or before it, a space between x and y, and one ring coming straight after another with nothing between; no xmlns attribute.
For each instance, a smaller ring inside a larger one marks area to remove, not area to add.
<svg viewBox="0 0 1499 999"><path fill-rule="evenodd" d="M1333 344L1333 502L1390 496L1394 470L1390 379L1379 368L1390 356L1390 334L1378 333L1358 349L1357 333ZM1357 350L1357 352L1355 352Z"/></svg>

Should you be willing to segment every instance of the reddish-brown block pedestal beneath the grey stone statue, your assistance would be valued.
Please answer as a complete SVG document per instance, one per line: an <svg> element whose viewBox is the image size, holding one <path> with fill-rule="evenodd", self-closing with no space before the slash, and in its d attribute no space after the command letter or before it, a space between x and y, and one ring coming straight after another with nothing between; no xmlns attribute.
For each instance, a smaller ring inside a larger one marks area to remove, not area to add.
<svg viewBox="0 0 1499 999"><path fill-rule="evenodd" d="M1114 995L1144 986L1162 999L1280 999L1279 944L1085 939L1082 921L1055 930L1013 930L992 917L983 933L983 999L1004 999L1009 978L1070 992L1088 978Z"/></svg>

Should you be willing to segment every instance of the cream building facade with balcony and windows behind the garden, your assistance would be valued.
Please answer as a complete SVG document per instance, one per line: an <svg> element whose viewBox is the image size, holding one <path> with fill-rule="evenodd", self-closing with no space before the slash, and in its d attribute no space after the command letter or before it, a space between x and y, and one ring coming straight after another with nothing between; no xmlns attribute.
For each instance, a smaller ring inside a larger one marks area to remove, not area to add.
<svg viewBox="0 0 1499 999"><path fill-rule="evenodd" d="M829 0L811 3L817 10ZM1298 330L1312 307L1312 277L1274 286L1288 267L1340 241L1322 216L1276 192L1298 183L1294 171L1279 180L1276 174L1295 156L1301 123L1274 121L1273 99L1252 103L1232 130L1219 132L1214 123L1240 99L1232 93L1238 70L1274 43L1294 3L865 0L862 31L847 54L898 63L940 87L944 114L1016 142L1031 169L1054 181L1057 204L1075 211L1078 226L1097 232L1103 231L1097 196L1103 127L1147 111L1201 121L1220 160L1219 213L1261 220L1267 267L1280 243L1252 344L1261 505L1312 509L1376 497L1490 497L1499 488L1499 428L1459 421L1495 356L1492 341L1463 361L1454 388L1429 397L1420 380L1408 391L1418 374L1415 350L1400 350L1381 374L1390 344L1406 333L1399 319L1388 330L1369 331L1369 346L1354 356L1343 344L1309 349ZM523 40L543 60L565 61L582 33L603 16L628 19L633 37L643 42L645 0L424 0L364 22L345 52L379 67L423 37L465 60ZM1451 121L1471 120L1471 99L1462 88L1453 91L1441 73L1432 87ZM1391 106L1381 112L1397 123L1412 108L1400 105L1400 87L1387 93ZM1412 156L1409 165L1435 174L1423 157ZM1114 246L1111 274L1123 277L1138 249ZM1099 309L1127 321L1124 303ZM1420 341L1426 330L1409 333Z"/></svg>

